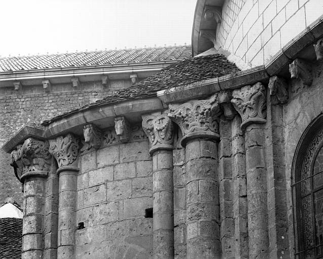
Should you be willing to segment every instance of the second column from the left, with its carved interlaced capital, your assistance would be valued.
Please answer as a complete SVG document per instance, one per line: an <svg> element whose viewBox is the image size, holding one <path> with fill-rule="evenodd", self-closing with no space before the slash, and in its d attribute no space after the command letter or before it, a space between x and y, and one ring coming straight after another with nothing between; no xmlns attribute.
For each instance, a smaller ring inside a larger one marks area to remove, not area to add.
<svg viewBox="0 0 323 259"><path fill-rule="evenodd" d="M75 247L77 167L79 141L72 134L50 140L50 153L58 163L58 248L57 257L72 259Z"/></svg>

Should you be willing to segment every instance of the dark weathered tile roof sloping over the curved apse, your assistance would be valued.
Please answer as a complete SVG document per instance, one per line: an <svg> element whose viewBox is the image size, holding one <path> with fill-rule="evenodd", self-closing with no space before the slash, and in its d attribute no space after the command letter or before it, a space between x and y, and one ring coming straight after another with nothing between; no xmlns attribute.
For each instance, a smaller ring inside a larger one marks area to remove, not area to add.
<svg viewBox="0 0 323 259"><path fill-rule="evenodd" d="M42 124L47 125L62 117L92 107L156 96L156 92L160 90L220 77L239 70L240 69L234 63L228 61L227 58L221 54L185 59L160 70L156 74L147 77L130 88L120 90L95 103L46 120Z"/></svg>

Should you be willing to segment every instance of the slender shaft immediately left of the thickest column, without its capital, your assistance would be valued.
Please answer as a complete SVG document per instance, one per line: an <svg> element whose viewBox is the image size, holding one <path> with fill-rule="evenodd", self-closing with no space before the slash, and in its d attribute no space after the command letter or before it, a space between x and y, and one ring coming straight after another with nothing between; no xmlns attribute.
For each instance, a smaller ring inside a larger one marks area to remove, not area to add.
<svg viewBox="0 0 323 259"><path fill-rule="evenodd" d="M153 258L174 258L173 152L157 150L153 161Z"/></svg>

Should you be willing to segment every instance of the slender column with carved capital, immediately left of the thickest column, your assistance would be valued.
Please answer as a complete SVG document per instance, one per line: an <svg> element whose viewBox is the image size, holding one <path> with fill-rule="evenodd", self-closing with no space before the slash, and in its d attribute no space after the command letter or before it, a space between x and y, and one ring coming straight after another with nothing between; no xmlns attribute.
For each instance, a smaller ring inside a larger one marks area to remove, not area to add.
<svg viewBox="0 0 323 259"><path fill-rule="evenodd" d="M146 116L142 128L150 142L153 191L153 258L174 258L173 122L166 114Z"/></svg>

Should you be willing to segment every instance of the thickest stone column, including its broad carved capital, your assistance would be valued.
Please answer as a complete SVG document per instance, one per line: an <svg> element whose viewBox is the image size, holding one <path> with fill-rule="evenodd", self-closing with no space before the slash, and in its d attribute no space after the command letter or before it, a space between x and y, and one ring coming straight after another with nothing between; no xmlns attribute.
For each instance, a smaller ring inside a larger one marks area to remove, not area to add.
<svg viewBox="0 0 323 259"><path fill-rule="evenodd" d="M187 259L220 258L217 96L170 105L186 147Z"/></svg>

